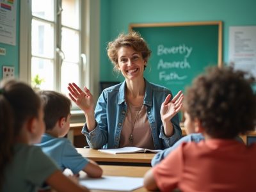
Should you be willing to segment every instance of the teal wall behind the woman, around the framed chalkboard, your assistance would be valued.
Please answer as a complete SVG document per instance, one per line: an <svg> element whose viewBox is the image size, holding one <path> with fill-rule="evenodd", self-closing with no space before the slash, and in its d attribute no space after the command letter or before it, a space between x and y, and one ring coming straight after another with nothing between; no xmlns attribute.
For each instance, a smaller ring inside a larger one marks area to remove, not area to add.
<svg viewBox="0 0 256 192"><path fill-rule="evenodd" d="M256 25L255 0L101 0L100 81L122 81L113 75L106 44L131 23L223 21L223 61L228 62L229 26Z"/></svg>

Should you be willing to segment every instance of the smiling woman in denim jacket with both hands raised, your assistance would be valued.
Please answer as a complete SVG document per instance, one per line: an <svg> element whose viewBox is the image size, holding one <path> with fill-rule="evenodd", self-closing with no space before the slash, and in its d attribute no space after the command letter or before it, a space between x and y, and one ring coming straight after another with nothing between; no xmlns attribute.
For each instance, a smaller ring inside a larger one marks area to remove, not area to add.
<svg viewBox="0 0 256 192"><path fill-rule="evenodd" d="M179 115L183 93L148 82L143 72L151 51L139 33L121 33L108 44L114 70L123 83L106 88L95 107L88 88L68 84L69 96L84 111L82 133L91 148L141 147L163 149L182 136ZM94 111L95 107L95 111Z"/></svg>

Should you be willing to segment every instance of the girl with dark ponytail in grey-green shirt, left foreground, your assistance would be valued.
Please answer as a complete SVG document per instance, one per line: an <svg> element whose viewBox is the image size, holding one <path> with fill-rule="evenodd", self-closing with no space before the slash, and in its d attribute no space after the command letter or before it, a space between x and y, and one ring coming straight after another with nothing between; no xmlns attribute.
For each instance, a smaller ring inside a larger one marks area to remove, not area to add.
<svg viewBox="0 0 256 192"><path fill-rule="evenodd" d="M44 183L56 191L88 191L68 179L32 144L45 131L40 98L14 79L0 84L0 191L37 191Z"/></svg>

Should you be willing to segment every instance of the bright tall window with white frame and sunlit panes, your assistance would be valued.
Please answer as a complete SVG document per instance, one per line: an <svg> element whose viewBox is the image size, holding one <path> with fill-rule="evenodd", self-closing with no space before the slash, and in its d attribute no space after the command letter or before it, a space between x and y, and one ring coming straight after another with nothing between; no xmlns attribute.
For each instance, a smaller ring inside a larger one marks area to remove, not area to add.
<svg viewBox="0 0 256 192"><path fill-rule="evenodd" d="M79 84L83 77L81 1L32 0L31 3L32 86L67 93L67 84Z"/></svg>

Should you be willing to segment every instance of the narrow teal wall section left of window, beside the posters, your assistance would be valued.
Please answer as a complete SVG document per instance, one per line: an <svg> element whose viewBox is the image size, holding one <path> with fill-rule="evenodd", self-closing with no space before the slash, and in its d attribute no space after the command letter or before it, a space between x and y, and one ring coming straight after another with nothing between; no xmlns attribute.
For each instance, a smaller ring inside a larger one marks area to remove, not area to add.
<svg viewBox="0 0 256 192"><path fill-rule="evenodd" d="M15 67L15 77L19 77L19 15L20 15L20 1L17 0L17 15L16 15L16 45L1 44L0 47L6 49L6 55L0 55L0 79L3 79L3 65Z"/></svg>

